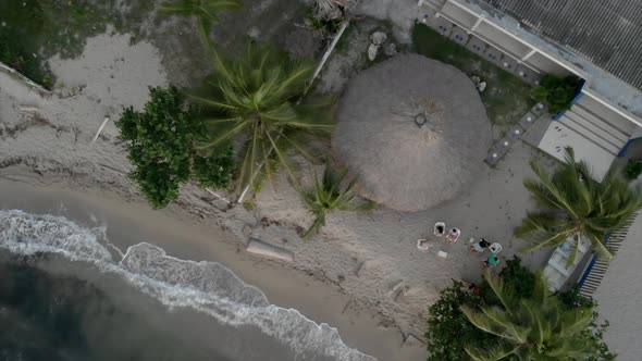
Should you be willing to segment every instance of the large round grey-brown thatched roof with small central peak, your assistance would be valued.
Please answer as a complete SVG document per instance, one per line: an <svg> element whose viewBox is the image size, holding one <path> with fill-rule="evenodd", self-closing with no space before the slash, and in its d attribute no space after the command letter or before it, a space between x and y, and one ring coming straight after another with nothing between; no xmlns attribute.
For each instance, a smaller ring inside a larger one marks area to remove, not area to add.
<svg viewBox="0 0 642 361"><path fill-rule="evenodd" d="M487 90L486 90L487 91ZM359 192L400 211L452 199L480 176L491 124L457 69L399 54L350 80L332 146Z"/></svg>

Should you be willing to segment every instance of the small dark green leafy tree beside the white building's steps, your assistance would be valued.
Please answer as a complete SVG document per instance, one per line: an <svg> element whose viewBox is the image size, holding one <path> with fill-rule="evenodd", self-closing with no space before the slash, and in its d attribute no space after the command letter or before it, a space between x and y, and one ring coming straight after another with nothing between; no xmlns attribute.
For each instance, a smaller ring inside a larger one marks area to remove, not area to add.
<svg viewBox="0 0 642 361"><path fill-rule="evenodd" d="M540 86L533 88L531 96L538 101L546 102L548 112L556 114L570 109L580 82L575 75L559 77L544 74L540 78Z"/></svg>

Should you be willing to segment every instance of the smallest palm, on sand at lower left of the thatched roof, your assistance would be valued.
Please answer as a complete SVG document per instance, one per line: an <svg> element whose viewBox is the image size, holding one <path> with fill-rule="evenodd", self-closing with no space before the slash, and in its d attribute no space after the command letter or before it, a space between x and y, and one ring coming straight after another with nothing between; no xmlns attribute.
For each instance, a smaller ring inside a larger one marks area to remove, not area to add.
<svg viewBox="0 0 642 361"><path fill-rule="evenodd" d="M304 234L304 238L312 233L319 232L321 227L325 225L325 215L330 212L363 212L376 207L376 203L371 201L354 206L354 201L357 197L357 195L353 192L356 179L350 180L348 185L342 189L342 184L346 176L347 171L336 173L330 165L325 165L323 178L319 180L319 177L314 174L314 185L312 189L299 191L306 207L314 215L314 221L310 228Z"/></svg>

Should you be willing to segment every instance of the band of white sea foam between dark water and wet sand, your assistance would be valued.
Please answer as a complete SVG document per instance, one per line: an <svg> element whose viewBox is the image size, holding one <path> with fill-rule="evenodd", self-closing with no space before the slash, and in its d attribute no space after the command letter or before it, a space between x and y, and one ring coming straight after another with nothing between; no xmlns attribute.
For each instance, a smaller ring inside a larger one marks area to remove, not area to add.
<svg viewBox="0 0 642 361"><path fill-rule="evenodd" d="M194 262L168 256L163 249L141 242L122 259L104 247L96 233L70 220L0 210L0 247L20 256L55 253L71 261L88 262L115 273L168 308L192 308L230 326L256 326L285 345L297 359L325 356L335 360L371 361L345 345L336 328L317 324L297 310L270 304L257 287L246 285L215 262Z"/></svg>

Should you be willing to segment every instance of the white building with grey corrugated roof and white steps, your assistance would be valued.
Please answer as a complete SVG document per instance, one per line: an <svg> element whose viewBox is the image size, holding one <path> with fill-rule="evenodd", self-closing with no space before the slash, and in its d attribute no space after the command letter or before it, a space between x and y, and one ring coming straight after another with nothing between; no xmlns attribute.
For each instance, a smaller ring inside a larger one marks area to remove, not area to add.
<svg viewBox="0 0 642 361"><path fill-rule="evenodd" d="M639 0L419 0L433 16L502 52L519 73L585 80L539 147L575 149L600 178L642 138L642 2Z"/></svg>

